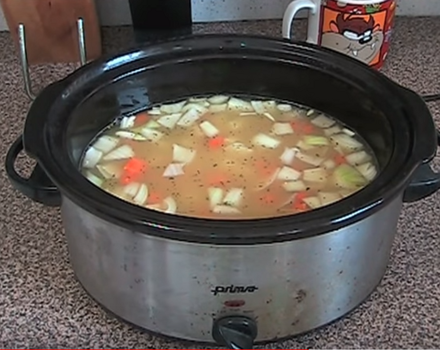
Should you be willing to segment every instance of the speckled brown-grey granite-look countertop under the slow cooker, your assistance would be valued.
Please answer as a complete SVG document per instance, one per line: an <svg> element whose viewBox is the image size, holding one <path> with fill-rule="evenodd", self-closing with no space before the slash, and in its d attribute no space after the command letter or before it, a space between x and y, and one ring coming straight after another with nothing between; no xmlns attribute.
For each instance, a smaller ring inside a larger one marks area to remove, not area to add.
<svg viewBox="0 0 440 350"><path fill-rule="evenodd" d="M279 21L194 26L198 33L279 35ZM304 37L305 23L297 26ZM420 93L440 91L439 18L398 18L384 73ZM129 27L104 29L107 51L131 44ZM74 64L32 67L34 91L64 77ZM7 148L22 131L29 99L8 33L0 33L0 347L202 349L164 340L121 323L81 289L69 265L59 210L11 188ZM440 125L440 103L430 109ZM434 161L438 168L439 161ZM32 161L18 168L29 173ZM440 346L440 193L404 206L391 261L377 290L347 317L271 349L399 349ZM373 257L372 257L373 258Z"/></svg>

